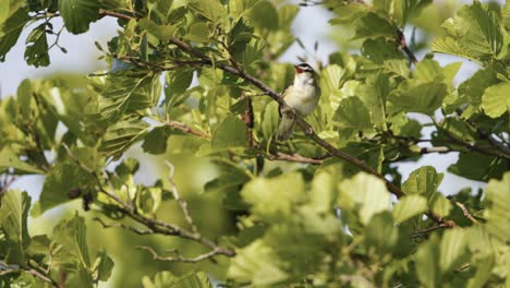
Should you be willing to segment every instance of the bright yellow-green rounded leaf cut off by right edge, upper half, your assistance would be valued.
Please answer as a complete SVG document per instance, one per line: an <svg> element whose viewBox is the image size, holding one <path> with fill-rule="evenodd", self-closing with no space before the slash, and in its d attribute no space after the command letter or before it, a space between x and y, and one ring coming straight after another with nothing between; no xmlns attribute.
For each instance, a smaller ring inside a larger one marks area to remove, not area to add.
<svg viewBox="0 0 510 288"><path fill-rule="evenodd" d="M482 96L482 108L491 118L498 118L510 110L510 83L490 86Z"/></svg>

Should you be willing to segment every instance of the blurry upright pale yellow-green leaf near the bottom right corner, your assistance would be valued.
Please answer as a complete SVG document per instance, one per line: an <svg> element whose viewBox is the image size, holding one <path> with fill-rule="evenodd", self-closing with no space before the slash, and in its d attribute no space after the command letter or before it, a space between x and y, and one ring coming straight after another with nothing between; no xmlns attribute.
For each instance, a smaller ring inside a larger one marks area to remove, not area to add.
<svg viewBox="0 0 510 288"><path fill-rule="evenodd" d="M445 231L440 242L439 267L444 274L458 268L469 261L466 255L466 244L469 238L464 230L460 228Z"/></svg>

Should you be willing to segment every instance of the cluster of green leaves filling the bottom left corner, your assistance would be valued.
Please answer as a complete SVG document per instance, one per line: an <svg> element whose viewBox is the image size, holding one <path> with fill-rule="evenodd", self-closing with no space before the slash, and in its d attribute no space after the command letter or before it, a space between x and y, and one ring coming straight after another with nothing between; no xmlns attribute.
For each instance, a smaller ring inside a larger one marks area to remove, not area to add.
<svg viewBox="0 0 510 288"><path fill-rule="evenodd" d="M40 283L45 281L57 286L53 279L59 277L66 278L66 285L73 287L89 287L110 277L112 260L104 251L90 259L85 219L77 213L57 224L51 238L47 235L31 237L27 227L31 202L26 192L17 190L2 195L2 287L42 287Z"/></svg>

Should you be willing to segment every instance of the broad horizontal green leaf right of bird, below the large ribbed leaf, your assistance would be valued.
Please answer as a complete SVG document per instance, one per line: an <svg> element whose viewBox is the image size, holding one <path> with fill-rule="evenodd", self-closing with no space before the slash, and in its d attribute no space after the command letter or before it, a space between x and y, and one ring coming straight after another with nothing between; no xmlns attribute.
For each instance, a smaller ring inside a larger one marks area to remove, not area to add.
<svg viewBox="0 0 510 288"><path fill-rule="evenodd" d="M398 108L409 112L433 115L447 95L445 83L428 82L413 85L405 82L390 94L390 101Z"/></svg>

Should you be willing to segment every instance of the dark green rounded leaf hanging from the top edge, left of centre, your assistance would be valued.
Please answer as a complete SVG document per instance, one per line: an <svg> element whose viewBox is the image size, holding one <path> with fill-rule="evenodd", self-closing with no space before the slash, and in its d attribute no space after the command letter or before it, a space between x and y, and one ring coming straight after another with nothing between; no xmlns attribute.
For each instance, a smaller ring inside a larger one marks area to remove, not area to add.
<svg viewBox="0 0 510 288"><path fill-rule="evenodd" d="M59 11L65 28L72 34L88 31L90 22L99 19L99 0L59 0Z"/></svg>

